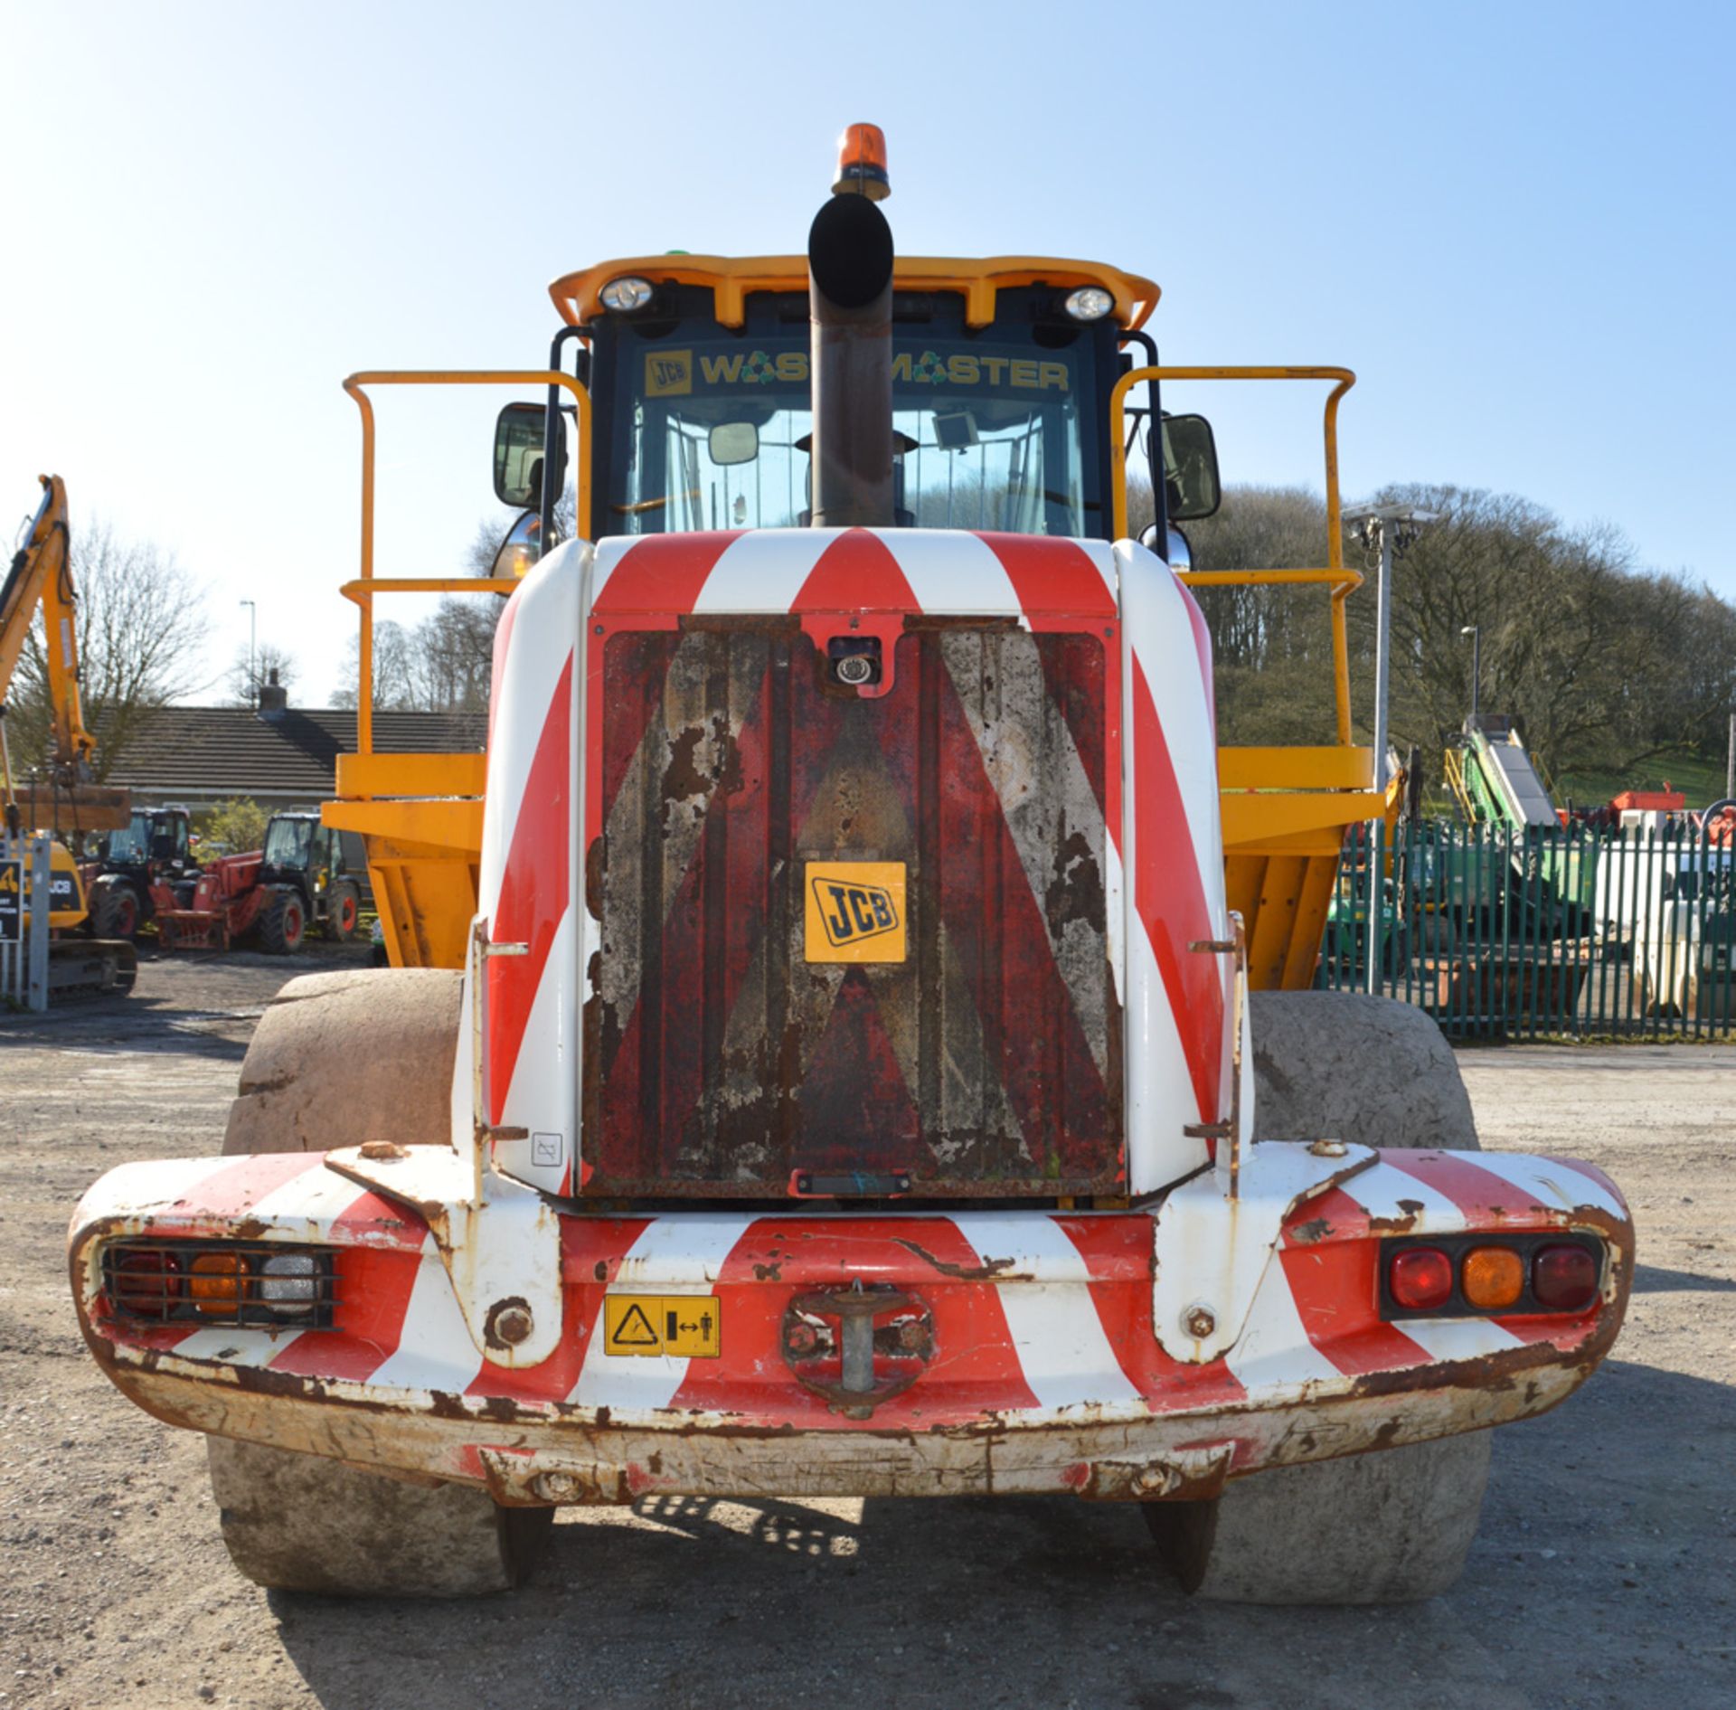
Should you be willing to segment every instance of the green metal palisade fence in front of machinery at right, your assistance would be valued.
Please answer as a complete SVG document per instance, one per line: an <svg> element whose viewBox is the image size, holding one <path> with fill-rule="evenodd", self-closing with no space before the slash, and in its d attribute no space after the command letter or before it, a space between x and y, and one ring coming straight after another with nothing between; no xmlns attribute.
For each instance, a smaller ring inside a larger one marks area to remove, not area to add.
<svg viewBox="0 0 1736 1710"><path fill-rule="evenodd" d="M1453 1038L1696 1038L1736 1026L1733 852L1686 821L1630 832L1424 821L1391 837L1377 828L1373 852L1366 835L1345 840L1319 986L1415 1003Z"/></svg>

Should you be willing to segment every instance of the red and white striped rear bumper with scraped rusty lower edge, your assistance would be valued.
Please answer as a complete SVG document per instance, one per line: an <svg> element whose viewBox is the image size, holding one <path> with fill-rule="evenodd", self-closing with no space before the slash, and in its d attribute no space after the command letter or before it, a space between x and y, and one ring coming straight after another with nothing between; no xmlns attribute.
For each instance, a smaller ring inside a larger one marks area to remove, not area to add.
<svg viewBox="0 0 1736 1710"><path fill-rule="evenodd" d="M1255 1148L1286 1167L1304 1151ZM484 1262L493 1205L457 1238L451 1207L413 1208L413 1193L387 1198L318 1154L179 1160L90 1189L71 1276L92 1351L160 1418L507 1502L1205 1495L1269 1465L1543 1411L1614 1340L1632 1226L1590 1167L1406 1151L1316 1175L1271 1210L1271 1240L1238 1250L1236 1281L1198 1257L1217 1240L1210 1175L1149 1212L604 1217L538 1203L542 1234ZM1385 1321L1380 1243L1465 1231L1594 1234L1601 1293L1575 1316ZM142 1240L332 1248L335 1323L128 1319L104 1250ZM502 1293L503 1264L523 1266L523 1290ZM517 1359L498 1314L543 1299L538 1276L561 1323ZM1194 1279L1233 1314L1227 1352L1163 1321ZM490 1297L486 1312L467 1290ZM668 1302L670 1332L715 1314L715 1354L639 1351ZM634 1304L644 1323L628 1323ZM870 1333L849 1332L852 1316Z"/></svg>

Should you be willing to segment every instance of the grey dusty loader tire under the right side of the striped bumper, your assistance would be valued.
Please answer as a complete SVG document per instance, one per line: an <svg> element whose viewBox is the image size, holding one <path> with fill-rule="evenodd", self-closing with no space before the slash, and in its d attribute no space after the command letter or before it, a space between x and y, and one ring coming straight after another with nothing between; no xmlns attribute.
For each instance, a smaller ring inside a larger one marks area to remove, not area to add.
<svg viewBox="0 0 1736 1710"><path fill-rule="evenodd" d="M1255 1128L1477 1151L1451 1047L1422 1010L1347 991L1253 995ZM1279 1467L1146 1521L1182 1588L1219 1602L1417 1602L1463 1571L1489 1432Z"/></svg>

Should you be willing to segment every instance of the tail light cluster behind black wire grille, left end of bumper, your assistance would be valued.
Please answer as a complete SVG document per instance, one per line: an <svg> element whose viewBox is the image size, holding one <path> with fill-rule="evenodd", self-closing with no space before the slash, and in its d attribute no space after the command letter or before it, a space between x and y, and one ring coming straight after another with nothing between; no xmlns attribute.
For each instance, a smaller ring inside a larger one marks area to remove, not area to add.
<svg viewBox="0 0 1736 1710"><path fill-rule="evenodd" d="M339 1304L328 1246L260 1241L113 1241L102 1288L116 1319L328 1330Z"/></svg>

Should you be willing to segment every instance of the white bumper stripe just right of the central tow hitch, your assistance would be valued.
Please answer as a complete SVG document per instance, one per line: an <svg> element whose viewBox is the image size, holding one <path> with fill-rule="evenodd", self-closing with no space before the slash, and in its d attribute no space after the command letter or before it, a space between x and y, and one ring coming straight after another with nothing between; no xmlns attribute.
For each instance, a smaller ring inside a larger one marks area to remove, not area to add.
<svg viewBox="0 0 1736 1710"><path fill-rule="evenodd" d="M984 1262L1003 1257L1009 1238L1036 1259L1038 1274L1083 1267L1080 1250L1052 1217L960 1212L958 1233ZM1085 1283L1002 1283L996 1288L1024 1382L1042 1408L1142 1401L1102 1332Z"/></svg>

